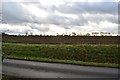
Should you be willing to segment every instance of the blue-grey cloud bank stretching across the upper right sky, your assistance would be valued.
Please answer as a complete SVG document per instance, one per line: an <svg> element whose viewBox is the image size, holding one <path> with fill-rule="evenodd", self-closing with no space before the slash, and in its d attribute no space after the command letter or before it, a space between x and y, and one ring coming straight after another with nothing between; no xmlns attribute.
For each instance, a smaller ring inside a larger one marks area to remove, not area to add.
<svg viewBox="0 0 120 80"><path fill-rule="evenodd" d="M81 14L81 13L108 13L117 14L118 13L118 3L117 2L77 2L77 3L67 3L66 5L59 6L57 8L62 13L71 14Z"/></svg>

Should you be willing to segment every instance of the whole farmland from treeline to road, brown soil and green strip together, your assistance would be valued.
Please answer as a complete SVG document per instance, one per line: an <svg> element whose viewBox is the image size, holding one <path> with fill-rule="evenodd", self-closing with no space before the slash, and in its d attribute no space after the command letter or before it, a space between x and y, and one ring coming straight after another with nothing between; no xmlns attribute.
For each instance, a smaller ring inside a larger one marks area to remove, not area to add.
<svg viewBox="0 0 120 80"><path fill-rule="evenodd" d="M118 67L119 36L3 35L4 57L79 65Z"/></svg>

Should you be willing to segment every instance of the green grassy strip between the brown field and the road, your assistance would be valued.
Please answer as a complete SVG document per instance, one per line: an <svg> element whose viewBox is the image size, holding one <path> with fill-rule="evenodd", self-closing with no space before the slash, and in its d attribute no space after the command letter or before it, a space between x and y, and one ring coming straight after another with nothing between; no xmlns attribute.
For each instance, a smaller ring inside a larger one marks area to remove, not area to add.
<svg viewBox="0 0 120 80"><path fill-rule="evenodd" d="M4 57L79 65L119 67L118 45L3 43Z"/></svg>

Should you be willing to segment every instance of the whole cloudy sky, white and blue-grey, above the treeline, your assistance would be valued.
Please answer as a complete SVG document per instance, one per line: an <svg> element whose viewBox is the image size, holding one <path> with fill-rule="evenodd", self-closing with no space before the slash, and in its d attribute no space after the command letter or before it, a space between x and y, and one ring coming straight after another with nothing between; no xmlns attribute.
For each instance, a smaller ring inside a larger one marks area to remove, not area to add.
<svg viewBox="0 0 120 80"><path fill-rule="evenodd" d="M0 8L9 34L118 33L118 0L4 0Z"/></svg>

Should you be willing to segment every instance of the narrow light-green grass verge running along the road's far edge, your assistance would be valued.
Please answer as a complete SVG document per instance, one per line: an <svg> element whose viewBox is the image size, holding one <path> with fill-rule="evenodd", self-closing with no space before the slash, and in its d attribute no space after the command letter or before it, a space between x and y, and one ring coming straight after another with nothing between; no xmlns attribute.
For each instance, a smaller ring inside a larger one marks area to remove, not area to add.
<svg viewBox="0 0 120 80"><path fill-rule="evenodd" d="M18 60L28 60L28 61L38 61L38 62L48 62L48 63L74 64L74 65L81 65L81 66L120 68L118 64L113 64L113 63L95 63L95 62L83 62L83 61L75 61L75 60L59 60L59 59L49 59L49 58L15 57L15 56L8 56L7 58L18 59Z"/></svg>

